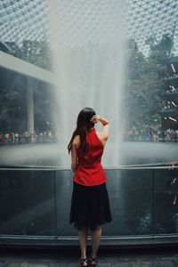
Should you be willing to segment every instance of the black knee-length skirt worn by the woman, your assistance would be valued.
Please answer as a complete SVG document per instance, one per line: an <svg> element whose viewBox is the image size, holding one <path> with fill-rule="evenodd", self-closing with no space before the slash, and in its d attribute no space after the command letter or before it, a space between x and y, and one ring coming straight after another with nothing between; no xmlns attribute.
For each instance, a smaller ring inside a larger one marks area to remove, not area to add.
<svg viewBox="0 0 178 267"><path fill-rule="evenodd" d="M106 183L84 186L74 182L69 223L74 223L74 228L77 230L88 227L94 231L102 224L111 221Z"/></svg>

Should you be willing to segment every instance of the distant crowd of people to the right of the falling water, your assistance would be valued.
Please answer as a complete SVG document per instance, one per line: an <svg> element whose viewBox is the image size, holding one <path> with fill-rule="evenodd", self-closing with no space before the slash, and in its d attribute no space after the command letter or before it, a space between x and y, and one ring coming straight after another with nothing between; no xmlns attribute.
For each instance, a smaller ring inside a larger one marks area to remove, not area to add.
<svg viewBox="0 0 178 267"><path fill-rule="evenodd" d="M156 130L150 126L136 127L132 126L124 134L125 141L143 141L143 142L178 142L178 130L166 129Z"/></svg>

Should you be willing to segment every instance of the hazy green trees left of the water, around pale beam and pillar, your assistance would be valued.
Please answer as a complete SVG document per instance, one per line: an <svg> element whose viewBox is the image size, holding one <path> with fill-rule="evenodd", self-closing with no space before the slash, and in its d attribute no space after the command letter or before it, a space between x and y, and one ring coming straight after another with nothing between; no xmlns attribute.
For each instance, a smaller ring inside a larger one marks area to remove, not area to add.
<svg viewBox="0 0 178 267"><path fill-rule="evenodd" d="M24 40L20 46L6 43L9 53L44 69L52 69L52 51L45 41ZM27 87L30 77L16 72L0 69L0 132L27 131ZM36 81L34 89L36 130L45 130L46 122L51 120L49 110L49 85ZM42 88L40 88L40 86ZM39 93L40 92L40 93ZM42 98L39 99L38 95Z"/></svg>

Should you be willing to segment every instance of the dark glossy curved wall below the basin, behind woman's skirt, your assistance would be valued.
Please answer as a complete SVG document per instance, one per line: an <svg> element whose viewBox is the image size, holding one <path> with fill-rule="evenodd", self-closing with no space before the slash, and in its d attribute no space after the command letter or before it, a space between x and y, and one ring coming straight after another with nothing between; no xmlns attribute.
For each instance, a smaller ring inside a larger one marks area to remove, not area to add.
<svg viewBox="0 0 178 267"><path fill-rule="evenodd" d="M151 237L178 231L178 170L106 170L113 221L103 239ZM0 171L2 236L73 239L69 224L72 173L69 170ZM1 240L2 242L2 240ZM141 241L142 243L142 241Z"/></svg>

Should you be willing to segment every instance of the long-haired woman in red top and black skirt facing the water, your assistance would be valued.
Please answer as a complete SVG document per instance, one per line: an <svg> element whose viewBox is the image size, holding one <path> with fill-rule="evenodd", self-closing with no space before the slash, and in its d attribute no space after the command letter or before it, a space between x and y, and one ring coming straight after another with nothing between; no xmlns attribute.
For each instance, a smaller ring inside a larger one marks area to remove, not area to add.
<svg viewBox="0 0 178 267"><path fill-rule="evenodd" d="M101 133L94 125L101 122ZM88 266L86 245L88 230L92 231L93 247L90 265L97 264L97 250L101 239L101 225L111 222L106 175L101 156L109 137L109 121L95 114L91 108L80 111L77 128L68 145L71 169L74 172L69 223L78 230L81 266Z"/></svg>

